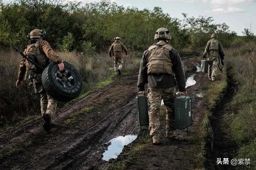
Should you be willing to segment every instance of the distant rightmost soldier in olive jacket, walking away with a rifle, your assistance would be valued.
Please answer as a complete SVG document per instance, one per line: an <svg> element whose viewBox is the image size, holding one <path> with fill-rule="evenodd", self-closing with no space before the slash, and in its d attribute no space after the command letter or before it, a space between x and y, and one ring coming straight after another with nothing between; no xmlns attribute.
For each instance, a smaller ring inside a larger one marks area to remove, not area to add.
<svg viewBox="0 0 256 170"><path fill-rule="evenodd" d="M204 59L206 59L206 55L207 60L209 61L208 78L210 79L210 81L215 81L218 67L220 68L220 70L222 70L222 66L224 65L223 60L225 56L223 47L220 41L218 41L217 33L213 33L211 39L208 41L204 51ZM222 66L220 66L220 61L222 63Z"/></svg>

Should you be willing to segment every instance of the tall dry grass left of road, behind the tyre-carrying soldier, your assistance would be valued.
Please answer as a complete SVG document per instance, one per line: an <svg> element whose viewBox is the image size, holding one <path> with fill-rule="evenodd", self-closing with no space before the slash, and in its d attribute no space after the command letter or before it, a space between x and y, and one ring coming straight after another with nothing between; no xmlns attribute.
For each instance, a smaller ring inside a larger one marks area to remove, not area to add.
<svg viewBox="0 0 256 170"><path fill-rule="evenodd" d="M84 98L93 89L102 88L114 81L114 62L108 57L108 53L87 55L58 52L58 55L72 64L82 76L83 91L75 100ZM31 95L33 89L27 87L28 80L24 81L20 89L15 87L21 61L20 55L14 51L1 51L0 59L0 74L2 75L0 76L0 127L6 129L30 115L40 115L40 99L37 95ZM140 57L130 53L128 57L124 57L122 72L126 75L137 72L139 62Z"/></svg>

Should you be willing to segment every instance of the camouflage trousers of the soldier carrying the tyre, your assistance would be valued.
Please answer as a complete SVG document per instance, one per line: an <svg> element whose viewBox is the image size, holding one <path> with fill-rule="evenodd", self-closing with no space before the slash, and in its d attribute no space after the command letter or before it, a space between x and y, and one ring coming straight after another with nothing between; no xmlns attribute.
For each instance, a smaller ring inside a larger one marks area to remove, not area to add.
<svg viewBox="0 0 256 170"><path fill-rule="evenodd" d="M42 84L42 73L34 74L33 83L34 83L34 91L35 94L40 94L40 106L41 106L41 113L49 114L50 116L54 114L57 101L52 98L52 96L46 94L43 84Z"/></svg>

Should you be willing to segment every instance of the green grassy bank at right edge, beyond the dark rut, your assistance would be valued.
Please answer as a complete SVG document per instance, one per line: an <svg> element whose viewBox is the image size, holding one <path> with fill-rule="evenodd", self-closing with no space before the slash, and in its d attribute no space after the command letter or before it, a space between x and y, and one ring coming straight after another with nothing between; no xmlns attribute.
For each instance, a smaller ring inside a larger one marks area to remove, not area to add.
<svg viewBox="0 0 256 170"><path fill-rule="evenodd" d="M229 106L233 111L231 131L238 145L236 157L250 158L250 168L256 169L256 43L248 42L230 49L228 56L227 63L232 66L234 79L238 82Z"/></svg>

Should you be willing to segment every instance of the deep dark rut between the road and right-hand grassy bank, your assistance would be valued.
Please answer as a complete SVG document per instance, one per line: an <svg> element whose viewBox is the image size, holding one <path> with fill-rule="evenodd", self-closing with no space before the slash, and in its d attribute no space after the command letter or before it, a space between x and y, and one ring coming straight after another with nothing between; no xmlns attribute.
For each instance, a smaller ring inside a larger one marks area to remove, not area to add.
<svg viewBox="0 0 256 170"><path fill-rule="evenodd" d="M213 116L210 121L213 130L213 137L208 143L208 168L210 169L236 169L236 166L230 164L230 161L235 157L236 143L233 140L231 132L231 121L227 121L230 114L233 112L228 107L228 104L234 96L236 89L235 80L230 73L227 74L228 86L222 94L222 98L218 101L215 109L212 111ZM228 158L229 164L216 164L217 158Z"/></svg>

